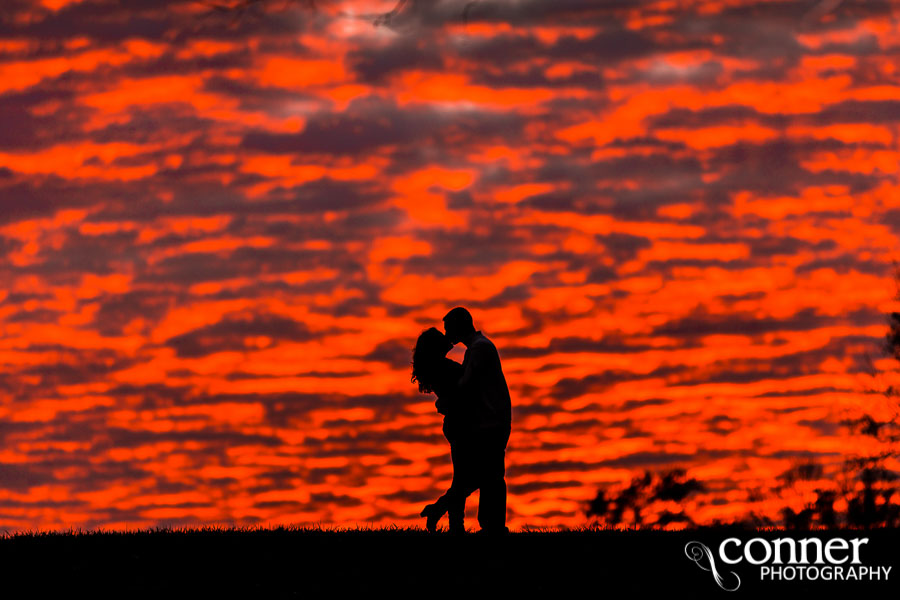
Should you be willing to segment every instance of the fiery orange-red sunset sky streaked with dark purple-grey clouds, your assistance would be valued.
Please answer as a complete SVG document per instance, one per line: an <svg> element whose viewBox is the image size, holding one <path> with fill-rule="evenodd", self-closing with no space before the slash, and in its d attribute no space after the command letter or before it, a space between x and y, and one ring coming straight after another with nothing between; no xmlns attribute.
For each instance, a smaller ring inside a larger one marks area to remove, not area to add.
<svg viewBox="0 0 900 600"><path fill-rule="evenodd" d="M421 526L458 305L511 528L675 467L777 518L870 449L900 0L211 4L3 0L0 529Z"/></svg>

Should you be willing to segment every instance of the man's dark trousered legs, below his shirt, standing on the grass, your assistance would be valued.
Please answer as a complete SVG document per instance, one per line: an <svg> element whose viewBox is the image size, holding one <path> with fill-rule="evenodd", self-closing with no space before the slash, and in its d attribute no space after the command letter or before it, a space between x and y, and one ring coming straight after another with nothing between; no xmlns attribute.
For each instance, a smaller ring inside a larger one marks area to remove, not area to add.
<svg viewBox="0 0 900 600"><path fill-rule="evenodd" d="M509 430L485 431L479 436L478 524L489 532L506 528L506 444Z"/></svg>

